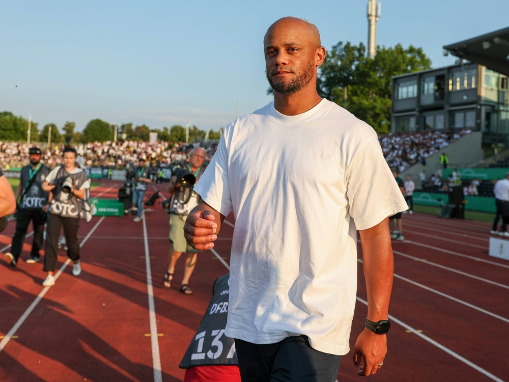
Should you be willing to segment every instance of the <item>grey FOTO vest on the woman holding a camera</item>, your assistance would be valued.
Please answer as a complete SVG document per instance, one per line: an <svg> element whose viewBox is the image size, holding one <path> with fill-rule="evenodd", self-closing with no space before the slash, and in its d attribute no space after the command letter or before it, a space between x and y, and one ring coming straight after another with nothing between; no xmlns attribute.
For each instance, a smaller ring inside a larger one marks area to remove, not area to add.
<svg viewBox="0 0 509 382"><path fill-rule="evenodd" d="M49 213L59 215L62 217L73 217L79 219L79 214L82 208L82 202L74 194L62 192L62 182L66 177L72 178L72 183L75 189L79 189L81 185L88 180L87 174L84 171L79 173L69 174L65 171L64 166L60 167L56 178L53 181L55 188L53 188L53 199L51 200L51 208Z"/></svg>

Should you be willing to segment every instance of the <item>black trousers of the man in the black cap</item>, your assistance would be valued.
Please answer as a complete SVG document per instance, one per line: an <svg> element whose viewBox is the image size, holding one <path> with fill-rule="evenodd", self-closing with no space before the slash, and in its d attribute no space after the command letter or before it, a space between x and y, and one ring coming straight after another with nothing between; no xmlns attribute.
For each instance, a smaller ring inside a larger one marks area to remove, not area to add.
<svg viewBox="0 0 509 382"><path fill-rule="evenodd" d="M18 261L19 255L23 250L26 231L29 228L30 221L34 227L34 241L30 256L39 257L39 250L42 248L42 234L44 232L44 215L40 209L18 208L16 211L16 233L12 238L11 253Z"/></svg>

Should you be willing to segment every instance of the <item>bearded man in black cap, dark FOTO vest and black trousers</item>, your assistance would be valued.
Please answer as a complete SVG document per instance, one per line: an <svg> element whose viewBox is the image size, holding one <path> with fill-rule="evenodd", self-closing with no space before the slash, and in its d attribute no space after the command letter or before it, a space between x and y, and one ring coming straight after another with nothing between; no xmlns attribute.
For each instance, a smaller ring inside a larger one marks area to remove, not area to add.
<svg viewBox="0 0 509 382"><path fill-rule="evenodd" d="M11 252L5 254L7 263L16 266L19 255L23 248L26 230L30 222L34 227L34 241L30 258L27 263L33 264L39 261L39 250L42 248L42 235L48 205L48 193L42 189L42 183L48 176L49 169L41 163L42 151L38 147L29 150L30 165L21 169L20 182L16 188L15 198L19 200L16 210L16 233L12 238Z"/></svg>

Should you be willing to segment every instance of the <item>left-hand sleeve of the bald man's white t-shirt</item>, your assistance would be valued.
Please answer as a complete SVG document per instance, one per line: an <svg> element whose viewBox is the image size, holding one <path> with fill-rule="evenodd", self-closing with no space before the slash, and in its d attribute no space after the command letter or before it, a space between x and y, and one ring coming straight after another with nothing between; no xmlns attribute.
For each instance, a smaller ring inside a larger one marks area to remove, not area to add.
<svg viewBox="0 0 509 382"><path fill-rule="evenodd" d="M228 148L225 135L221 136L216 153L193 189L205 203L223 216L227 216L233 208L228 182Z"/></svg>

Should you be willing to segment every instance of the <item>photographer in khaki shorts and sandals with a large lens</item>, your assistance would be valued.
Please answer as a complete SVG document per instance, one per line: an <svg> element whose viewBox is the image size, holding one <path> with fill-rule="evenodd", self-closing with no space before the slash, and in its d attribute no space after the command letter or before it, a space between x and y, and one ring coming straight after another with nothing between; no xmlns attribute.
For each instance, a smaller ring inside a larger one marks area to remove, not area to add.
<svg viewBox="0 0 509 382"><path fill-rule="evenodd" d="M189 157L189 165L187 166L188 173L192 174L197 183L203 173L203 162L205 161L205 150L201 147L196 147L191 151ZM175 272L175 264L180 258L182 253L186 253L186 265L184 268L184 277L182 278L182 284L180 291L184 294L192 294L192 289L189 287L189 278L192 275L194 266L196 265L196 251L187 245L184 237L184 223L187 215L191 209L199 203L198 196L190 190L190 197L182 200L181 196L184 195L185 189L182 184L182 177L177 175L172 176L172 181L168 187L168 192L172 194L169 211L169 241L172 243L172 248L168 252L168 267L166 268L166 274L164 275L163 285L165 288L172 286L173 275Z"/></svg>

